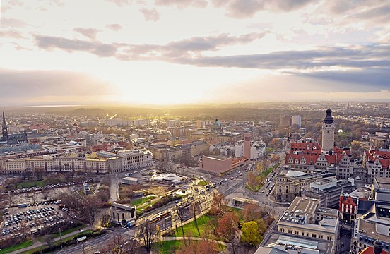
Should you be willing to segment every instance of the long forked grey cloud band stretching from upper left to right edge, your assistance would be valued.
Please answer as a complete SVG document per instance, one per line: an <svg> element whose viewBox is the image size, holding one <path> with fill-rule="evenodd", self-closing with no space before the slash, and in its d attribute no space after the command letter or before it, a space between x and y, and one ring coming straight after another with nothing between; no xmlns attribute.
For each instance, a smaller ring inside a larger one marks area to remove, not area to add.
<svg viewBox="0 0 390 254"><path fill-rule="evenodd" d="M266 54L218 56L218 50L236 44L259 40L266 33L232 36L191 37L164 45L105 44L97 40L70 40L62 37L35 35L42 49L66 52L89 52L97 56L113 56L122 61L158 60L201 67L259 68L267 70L321 71L331 68L389 68L390 45L372 44L358 47L318 47L311 50L289 50ZM209 52L207 56L203 54ZM210 52L215 52L214 56Z"/></svg>

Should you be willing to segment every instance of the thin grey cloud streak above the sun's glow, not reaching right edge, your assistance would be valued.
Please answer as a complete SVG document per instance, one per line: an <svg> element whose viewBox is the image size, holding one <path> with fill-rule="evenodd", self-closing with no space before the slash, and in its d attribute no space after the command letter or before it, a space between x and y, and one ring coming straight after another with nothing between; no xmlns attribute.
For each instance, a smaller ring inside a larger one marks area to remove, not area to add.
<svg viewBox="0 0 390 254"><path fill-rule="evenodd" d="M190 52L214 51L219 47L233 44L247 44L264 37L265 33L250 33L240 36L221 34L211 37L192 37L187 40L154 44L105 44L94 40L71 40L63 37L35 35L37 46L42 49L62 49L66 52L89 52L98 56L114 56L124 61L138 59L170 61L170 58L187 57Z"/></svg>

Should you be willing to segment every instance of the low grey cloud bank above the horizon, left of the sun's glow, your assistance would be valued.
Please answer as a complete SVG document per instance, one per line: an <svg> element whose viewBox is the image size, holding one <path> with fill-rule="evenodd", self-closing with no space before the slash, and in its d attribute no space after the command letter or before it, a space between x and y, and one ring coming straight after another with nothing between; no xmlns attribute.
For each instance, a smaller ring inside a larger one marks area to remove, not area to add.
<svg viewBox="0 0 390 254"><path fill-rule="evenodd" d="M39 102L47 97L69 100L78 96L99 97L112 93L109 83L85 73L70 71L14 71L0 68L0 87L1 104Z"/></svg>

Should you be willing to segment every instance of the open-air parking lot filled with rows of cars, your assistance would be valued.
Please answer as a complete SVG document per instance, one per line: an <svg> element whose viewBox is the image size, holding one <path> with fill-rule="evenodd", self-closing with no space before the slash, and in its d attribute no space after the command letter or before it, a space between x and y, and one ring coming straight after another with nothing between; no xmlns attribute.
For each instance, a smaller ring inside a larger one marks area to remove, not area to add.
<svg viewBox="0 0 390 254"><path fill-rule="evenodd" d="M68 217L65 211L59 209L59 201L20 204L19 207L4 209L1 236L13 238L36 234L56 224L68 222Z"/></svg>

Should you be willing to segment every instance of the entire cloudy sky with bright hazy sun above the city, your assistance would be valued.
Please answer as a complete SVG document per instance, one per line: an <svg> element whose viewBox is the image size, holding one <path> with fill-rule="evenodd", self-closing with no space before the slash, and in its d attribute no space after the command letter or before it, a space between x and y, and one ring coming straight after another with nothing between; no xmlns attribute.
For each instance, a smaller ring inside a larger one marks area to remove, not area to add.
<svg viewBox="0 0 390 254"><path fill-rule="evenodd" d="M389 0L0 3L0 106L390 101Z"/></svg>

